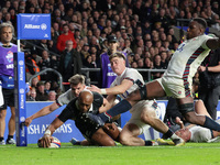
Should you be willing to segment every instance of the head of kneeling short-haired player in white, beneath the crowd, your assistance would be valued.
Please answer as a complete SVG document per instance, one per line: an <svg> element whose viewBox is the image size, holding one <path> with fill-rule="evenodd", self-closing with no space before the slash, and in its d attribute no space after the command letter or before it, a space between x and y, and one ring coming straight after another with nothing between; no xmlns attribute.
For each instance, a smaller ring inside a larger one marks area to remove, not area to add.
<svg viewBox="0 0 220 165"><path fill-rule="evenodd" d="M111 69L117 75L121 75L125 69L125 56L121 52L110 55L109 61L111 63Z"/></svg>

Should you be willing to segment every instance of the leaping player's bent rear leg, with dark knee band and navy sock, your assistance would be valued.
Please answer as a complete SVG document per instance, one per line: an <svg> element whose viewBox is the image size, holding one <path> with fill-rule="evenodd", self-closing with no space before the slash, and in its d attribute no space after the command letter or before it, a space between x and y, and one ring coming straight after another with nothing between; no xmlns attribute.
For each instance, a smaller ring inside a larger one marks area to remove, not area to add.
<svg viewBox="0 0 220 165"><path fill-rule="evenodd" d="M196 114L194 111L194 99L191 97L177 99L177 105L186 121L201 125L204 128L220 131L220 124L215 122L212 119L206 116Z"/></svg>

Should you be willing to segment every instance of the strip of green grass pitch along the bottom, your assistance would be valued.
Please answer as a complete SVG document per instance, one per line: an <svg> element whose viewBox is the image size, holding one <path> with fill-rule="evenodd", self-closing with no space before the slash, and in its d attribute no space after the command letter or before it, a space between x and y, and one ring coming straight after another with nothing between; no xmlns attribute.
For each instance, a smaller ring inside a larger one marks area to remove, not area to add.
<svg viewBox="0 0 220 165"><path fill-rule="evenodd" d="M187 143L178 147L0 145L0 165L220 165L219 155L220 143Z"/></svg>

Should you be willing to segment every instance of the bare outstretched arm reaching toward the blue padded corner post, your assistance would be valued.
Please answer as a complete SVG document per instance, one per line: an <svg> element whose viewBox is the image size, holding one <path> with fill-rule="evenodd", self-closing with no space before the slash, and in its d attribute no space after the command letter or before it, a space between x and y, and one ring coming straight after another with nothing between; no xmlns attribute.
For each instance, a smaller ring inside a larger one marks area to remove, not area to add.
<svg viewBox="0 0 220 165"><path fill-rule="evenodd" d="M26 118L25 125L29 127L31 124L32 120L34 120L36 118L40 118L40 117L43 117L43 116L46 116L46 114L50 114L51 112L53 112L57 108L59 108L59 107L57 106L56 102L42 108L40 111L37 111L36 113L34 113L33 116Z"/></svg>

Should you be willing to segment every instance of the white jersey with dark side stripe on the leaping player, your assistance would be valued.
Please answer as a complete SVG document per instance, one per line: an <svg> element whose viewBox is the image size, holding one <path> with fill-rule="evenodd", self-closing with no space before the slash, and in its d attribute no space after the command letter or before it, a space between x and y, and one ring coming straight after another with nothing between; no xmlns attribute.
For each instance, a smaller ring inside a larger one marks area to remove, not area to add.
<svg viewBox="0 0 220 165"><path fill-rule="evenodd" d="M206 42L212 37L204 34L183 42L172 56L164 77L174 77L191 82L197 68L210 52Z"/></svg>

